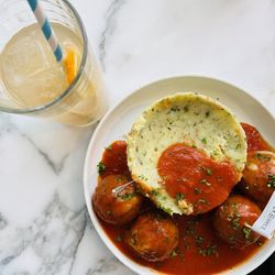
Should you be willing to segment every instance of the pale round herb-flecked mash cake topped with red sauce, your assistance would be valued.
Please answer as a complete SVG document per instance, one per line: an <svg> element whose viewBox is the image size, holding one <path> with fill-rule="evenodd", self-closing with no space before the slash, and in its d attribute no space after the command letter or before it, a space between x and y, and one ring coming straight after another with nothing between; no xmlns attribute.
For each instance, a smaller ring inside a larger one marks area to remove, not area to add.
<svg viewBox="0 0 275 275"><path fill-rule="evenodd" d="M245 134L235 116L193 92L153 103L128 138L132 178L170 215L197 215L219 206L240 180L245 161Z"/></svg>

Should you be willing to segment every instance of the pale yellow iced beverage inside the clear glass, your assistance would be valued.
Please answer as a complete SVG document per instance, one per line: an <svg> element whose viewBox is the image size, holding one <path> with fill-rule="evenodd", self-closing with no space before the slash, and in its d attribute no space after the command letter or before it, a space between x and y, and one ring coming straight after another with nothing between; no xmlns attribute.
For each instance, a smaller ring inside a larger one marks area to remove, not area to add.
<svg viewBox="0 0 275 275"><path fill-rule="evenodd" d="M53 23L53 29L64 58L69 51L74 51L74 66L78 72L84 56L82 41L63 24ZM56 62L35 23L19 31L3 47L0 78L4 92L19 108L48 105L35 116L73 125L87 125L97 121L107 109L101 72L91 52L87 52L81 74L69 84L64 64Z"/></svg>

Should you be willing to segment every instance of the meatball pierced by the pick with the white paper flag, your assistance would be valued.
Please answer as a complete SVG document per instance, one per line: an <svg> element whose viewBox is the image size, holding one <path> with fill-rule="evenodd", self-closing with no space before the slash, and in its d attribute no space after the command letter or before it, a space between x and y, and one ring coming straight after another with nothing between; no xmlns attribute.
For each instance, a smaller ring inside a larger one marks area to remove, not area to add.
<svg viewBox="0 0 275 275"><path fill-rule="evenodd" d="M244 249L260 238L251 230L260 215L256 204L241 195L232 195L216 210L213 227L223 241L233 248Z"/></svg>

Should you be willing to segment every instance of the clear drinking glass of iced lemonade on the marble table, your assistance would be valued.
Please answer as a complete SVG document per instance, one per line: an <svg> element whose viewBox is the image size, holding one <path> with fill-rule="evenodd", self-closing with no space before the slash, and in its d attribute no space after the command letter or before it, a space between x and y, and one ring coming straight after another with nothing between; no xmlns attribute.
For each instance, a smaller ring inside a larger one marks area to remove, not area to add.
<svg viewBox="0 0 275 275"><path fill-rule="evenodd" d="M72 82L26 0L0 0L0 111L85 127L107 110L106 87L82 22L66 0L41 0L64 54L74 51Z"/></svg>

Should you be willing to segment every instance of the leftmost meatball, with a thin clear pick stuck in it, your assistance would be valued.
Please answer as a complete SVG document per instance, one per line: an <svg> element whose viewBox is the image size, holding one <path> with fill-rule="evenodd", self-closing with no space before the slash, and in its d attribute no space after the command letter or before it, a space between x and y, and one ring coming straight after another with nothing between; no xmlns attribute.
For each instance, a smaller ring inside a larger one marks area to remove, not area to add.
<svg viewBox="0 0 275 275"><path fill-rule="evenodd" d="M112 224L124 224L136 217L143 197L136 193L133 183L125 185L130 180L124 175L109 175L99 182L92 204L101 220ZM123 185L125 186L121 190L117 188Z"/></svg>

